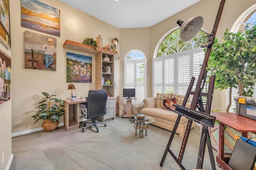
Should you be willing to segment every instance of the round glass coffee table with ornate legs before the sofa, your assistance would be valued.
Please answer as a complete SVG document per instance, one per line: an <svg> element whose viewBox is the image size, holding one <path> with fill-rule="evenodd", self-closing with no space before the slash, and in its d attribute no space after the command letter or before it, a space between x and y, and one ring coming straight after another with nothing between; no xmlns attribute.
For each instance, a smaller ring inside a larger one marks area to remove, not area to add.
<svg viewBox="0 0 256 170"><path fill-rule="evenodd" d="M145 129L146 136L147 135L147 130L148 130L148 125L152 124L155 122L155 119L149 116L146 116L148 118L147 121L141 121L141 120L136 120L134 117L129 117L129 121L131 123L134 123L134 128L135 128L135 136L137 136L137 129L140 130L140 138L143 138L143 130Z"/></svg>

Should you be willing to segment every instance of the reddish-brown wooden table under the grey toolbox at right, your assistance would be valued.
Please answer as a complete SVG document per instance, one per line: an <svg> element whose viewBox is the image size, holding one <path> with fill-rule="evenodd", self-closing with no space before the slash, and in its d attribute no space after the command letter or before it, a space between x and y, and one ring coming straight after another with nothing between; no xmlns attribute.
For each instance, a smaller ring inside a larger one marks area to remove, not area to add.
<svg viewBox="0 0 256 170"><path fill-rule="evenodd" d="M243 137L248 137L248 132L256 133L256 120L237 115L236 113L211 113L220 122L219 126L219 156L217 164L224 170L232 170L228 166L228 157L224 157L224 125L242 132Z"/></svg>

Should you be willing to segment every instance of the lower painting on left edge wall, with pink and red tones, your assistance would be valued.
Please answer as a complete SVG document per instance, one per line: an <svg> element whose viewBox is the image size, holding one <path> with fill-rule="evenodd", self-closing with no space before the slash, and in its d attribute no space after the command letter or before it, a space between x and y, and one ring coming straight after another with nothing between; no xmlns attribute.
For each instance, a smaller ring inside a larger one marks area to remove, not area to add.
<svg viewBox="0 0 256 170"><path fill-rule="evenodd" d="M0 52L0 104L11 99L11 59Z"/></svg>

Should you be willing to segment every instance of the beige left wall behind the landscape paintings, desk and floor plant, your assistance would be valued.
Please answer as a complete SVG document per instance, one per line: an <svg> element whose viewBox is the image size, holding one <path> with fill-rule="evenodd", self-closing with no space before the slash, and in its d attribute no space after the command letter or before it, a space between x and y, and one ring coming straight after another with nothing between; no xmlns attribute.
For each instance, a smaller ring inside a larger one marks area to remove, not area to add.
<svg viewBox="0 0 256 170"><path fill-rule="evenodd" d="M24 31L33 31L21 27L20 22L20 1L17 4L11 4L12 20L12 133L27 131L41 127L42 121L34 123L30 118L34 113L34 107L44 97L41 92L56 94L58 98L69 99L70 90L67 90L66 82L66 52L88 55L92 57L92 83L73 83L76 87L73 90L74 95L87 96L88 90L95 89L95 70L102 69L95 65L95 55L81 53L63 49L63 43L66 39L80 42L84 38L96 37L100 34L103 39L103 45L112 44L112 39L119 36L119 29L100 21L88 14L76 10L60 1L41 0L41 2L58 8L60 10L60 37L57 39L57 64L56 71L33 70L24 68ZM44 34L48 35L48 34ZM49 35L52 36L52 35ZM55 36L53 36L55 37ZM119 47L117 47L118 50ZM116 69L119 69L119 61L116 61ZM116 73L119 77L119 73ZM119 87L118 87L119 88ZM116 90L118 95L118 90ZM63 117L60 120L63 123Z"/></svg>

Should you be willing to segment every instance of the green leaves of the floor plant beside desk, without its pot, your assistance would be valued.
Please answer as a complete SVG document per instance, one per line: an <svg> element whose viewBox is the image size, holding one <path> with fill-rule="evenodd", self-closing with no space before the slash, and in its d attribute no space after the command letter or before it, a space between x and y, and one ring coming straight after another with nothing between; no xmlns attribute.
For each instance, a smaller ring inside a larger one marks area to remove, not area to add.
<svg viewBox="0 0 256 170"><path fill-rule="evenodd" d="M55 98L56 95L49 95L46 92L42 92L44 96L46 96L45 100L39 102L38 106L35 109L39 109L34 117L34 124L40 119L49 119L50 121L60 120L60 116L65 114L64 111L64 101L58 98Z"/></svg>

